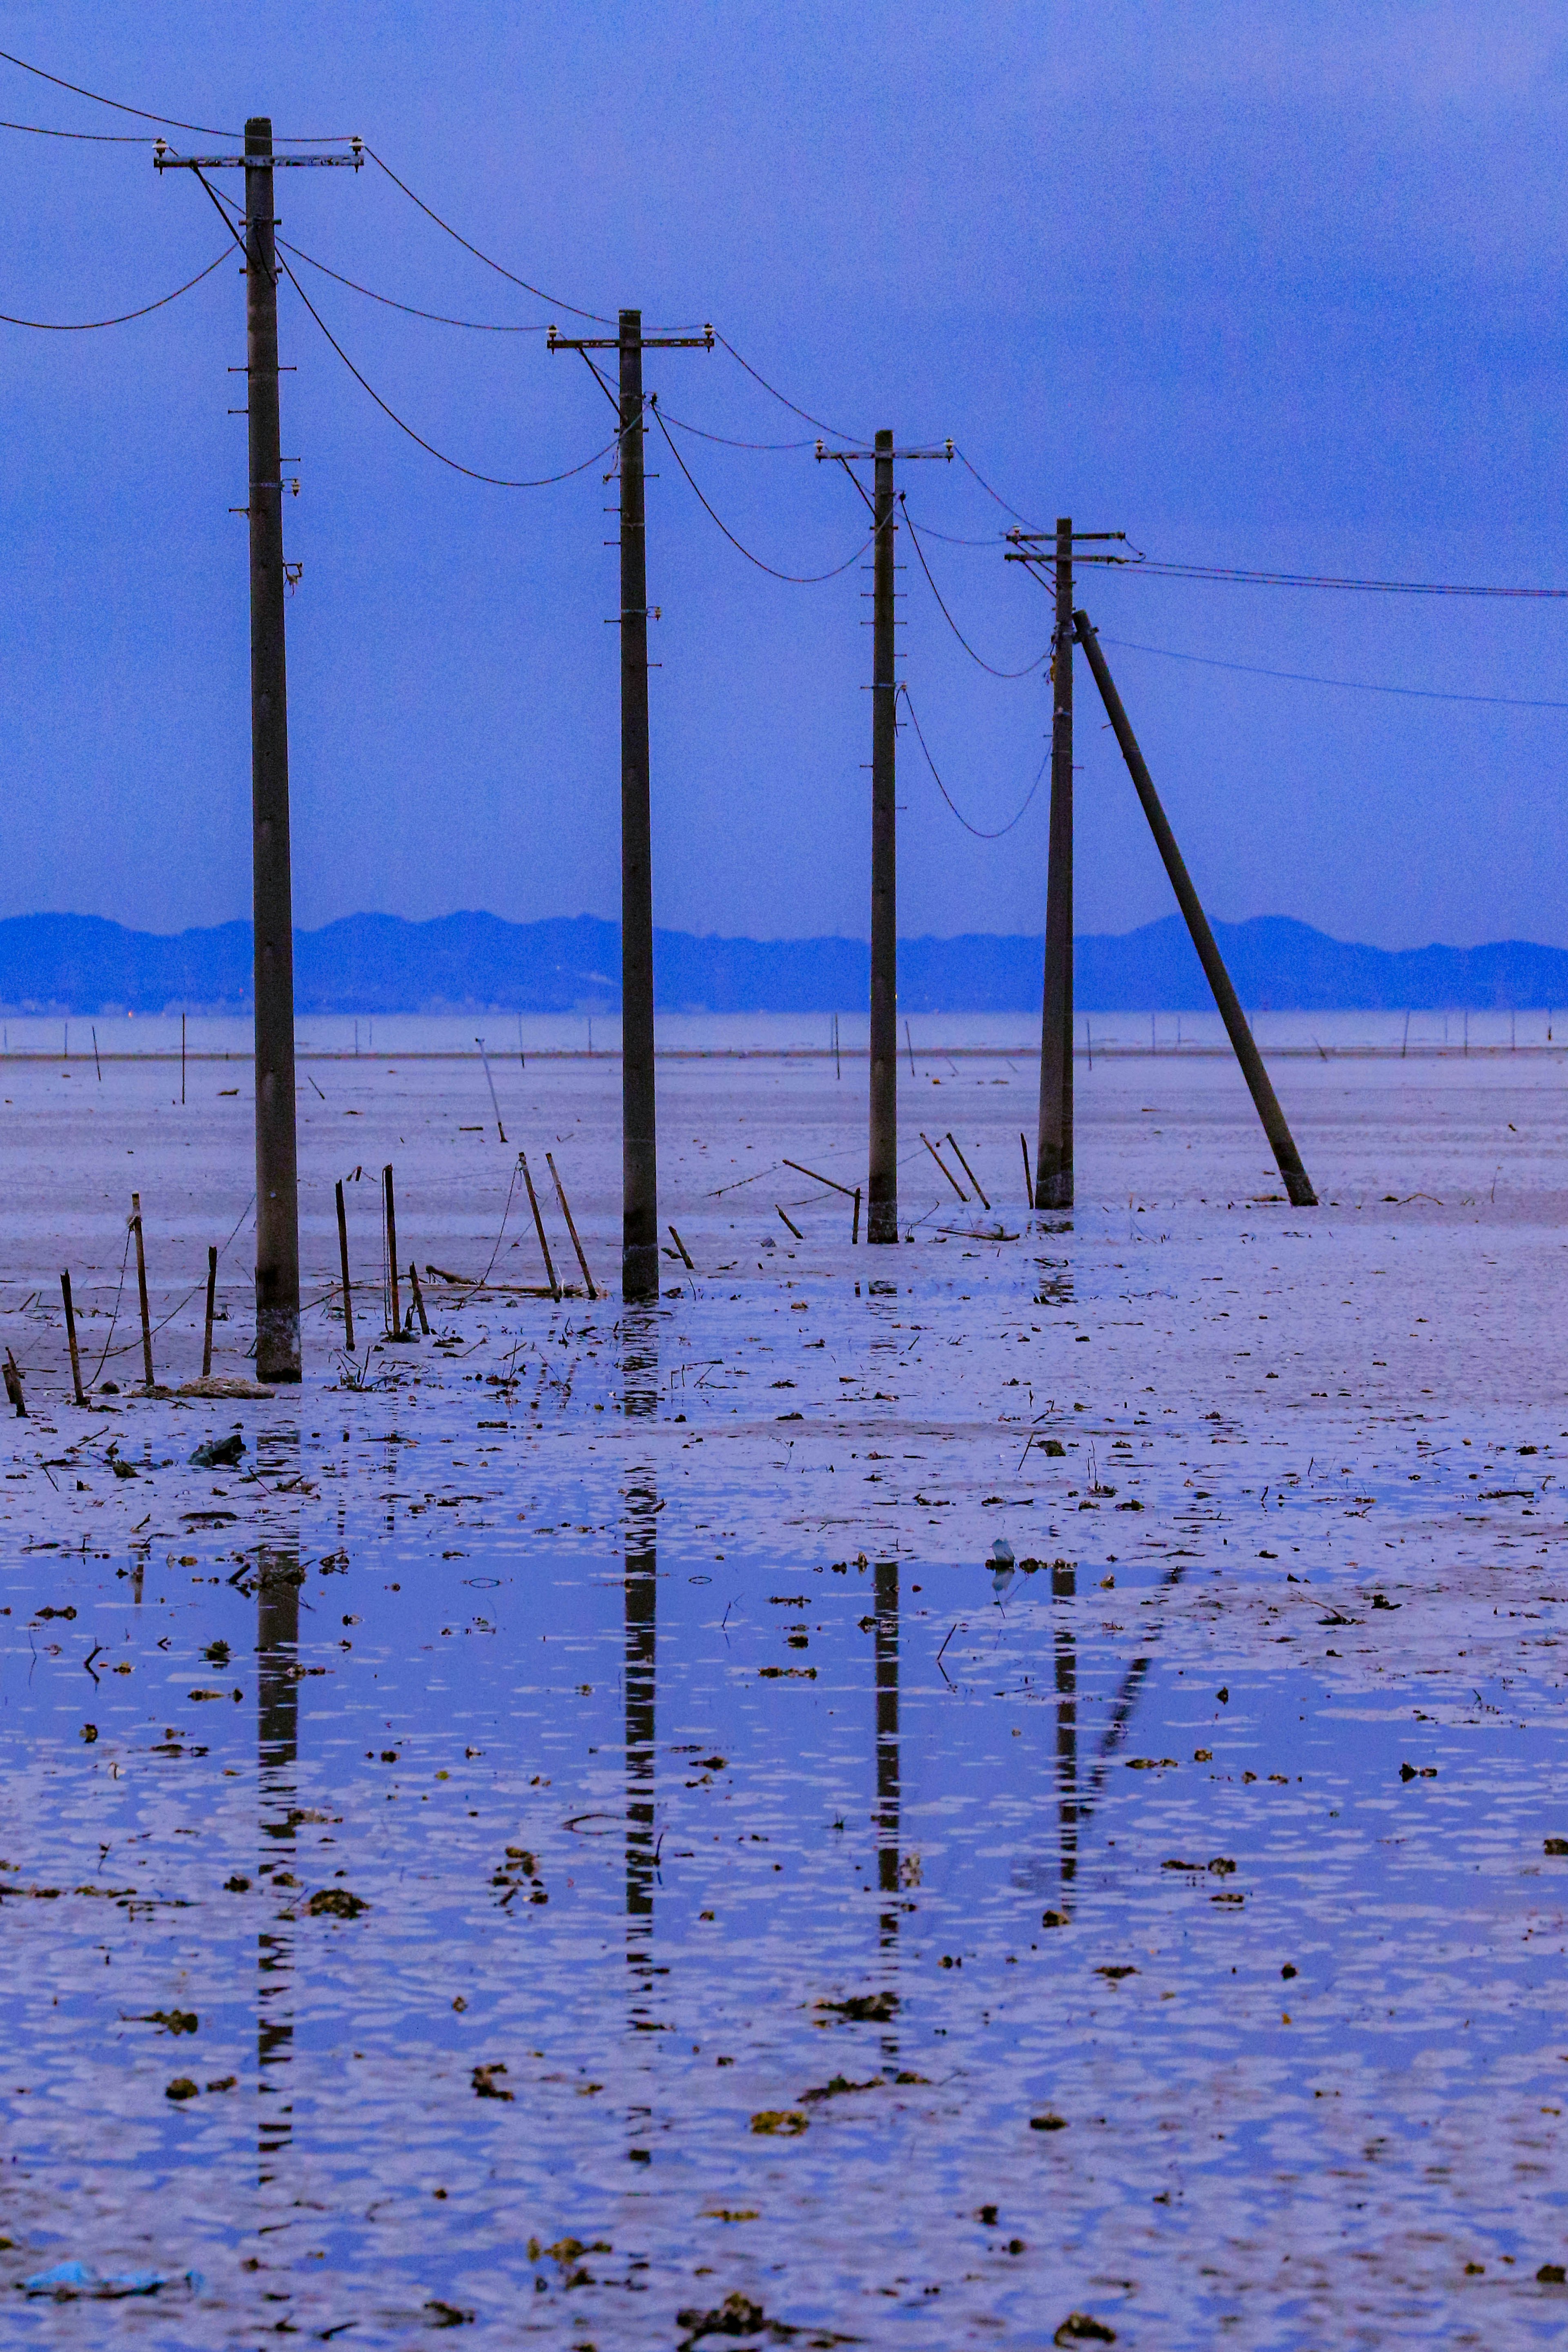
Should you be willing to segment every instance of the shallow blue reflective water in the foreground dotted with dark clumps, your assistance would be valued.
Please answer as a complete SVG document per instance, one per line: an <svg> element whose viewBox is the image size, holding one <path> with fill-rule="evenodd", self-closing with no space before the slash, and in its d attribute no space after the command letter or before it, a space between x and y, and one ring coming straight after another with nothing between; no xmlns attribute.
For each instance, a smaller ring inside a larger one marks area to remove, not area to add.
<svg viewBox="0 0 1568 2352"><path fill-rule="evenodd" d="M1544 1679L698 1545L5 1559L9 2340L1561 2338Z"/></svg>

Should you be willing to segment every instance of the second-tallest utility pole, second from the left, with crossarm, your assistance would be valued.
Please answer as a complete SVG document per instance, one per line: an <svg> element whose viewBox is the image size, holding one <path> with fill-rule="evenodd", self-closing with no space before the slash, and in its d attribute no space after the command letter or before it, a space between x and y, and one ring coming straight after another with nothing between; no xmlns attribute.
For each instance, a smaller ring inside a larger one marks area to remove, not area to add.
<svg viewBox="0 0 1568 2352"><path fill-rule="evenodd" d="M550 350L614 350L621 442L621 1296L658 1298L658 1122L654 1101L654 835L649 802L649 534L642 499L642 353L712 350L703 334L562 336ZM592 367L592 360L588 360ZM609 393L599 369L592 369Z"/></svg>

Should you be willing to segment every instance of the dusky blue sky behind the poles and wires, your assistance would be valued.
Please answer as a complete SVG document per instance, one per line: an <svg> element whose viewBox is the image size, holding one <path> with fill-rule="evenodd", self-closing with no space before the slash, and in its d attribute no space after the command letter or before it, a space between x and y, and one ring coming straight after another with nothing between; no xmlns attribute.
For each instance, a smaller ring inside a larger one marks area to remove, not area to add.
<svg viewBox="0 0 1568 2352"><path fill-rule="evenodd" d="M853 433L952 433L1030 520L1150 553L1568 586L1561 153L1568 21L1516 5L5 5L0 47L219 127L362 132L552 296L715 325ZM153 129L0 66L0 113ZM0 132L0 308L99 318L221 249L141 146ZM280 174L282 235L409 303L569 325L374 169ZM371 383L489 473L597 449L541 334L468 334L301 268ZM296 917L616 913L614 485L484 489L414 447L282 289ZM0 913L179 929L249 906L244 287L132 327L0 327ZM672 416L811 437L724 353L649 358ZM839 562L860 501L809 449L682 440L769 562ZM658 920L867 927L870 579L755 572L649 440ZM959 466L910 513L1006 515ZM1046 597L994 543L926 543L997 666ZM910 548L900 548L900 560ZM954 800L1020 804L1037 677L997 682L912 564L900 670ZM1091 574L1105 637L1328 677L1568 701L1568 607ZM1110 652L1211 913L1410 946L1568 943L1568 710L1410 701ZM1079 666L1079 927L1168 908ZM900 736L900 929L1039 929L1046 795L966 835Z"/></svg>

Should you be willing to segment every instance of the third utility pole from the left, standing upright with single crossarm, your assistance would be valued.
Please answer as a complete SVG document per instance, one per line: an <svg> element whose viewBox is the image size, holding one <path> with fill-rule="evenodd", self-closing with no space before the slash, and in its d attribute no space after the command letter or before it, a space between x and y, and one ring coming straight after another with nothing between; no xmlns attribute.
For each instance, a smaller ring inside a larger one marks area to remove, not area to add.
<svg viewBox="0 0 1568 2352"><path fill-rule="evenodd" d="M872 461L872 1035L870 1035L870 1164L865 1176L865 1240L898 1240L898 680L893 677L898 590L893 574L893 459L952 459L943 449L893 449L877 433L872 449L827 449L818 459L849 468ZM851 475L853 480L853 475ZM856 489L860 485L856 482ZM860 489L860 496L865 492Z"/></svg>

